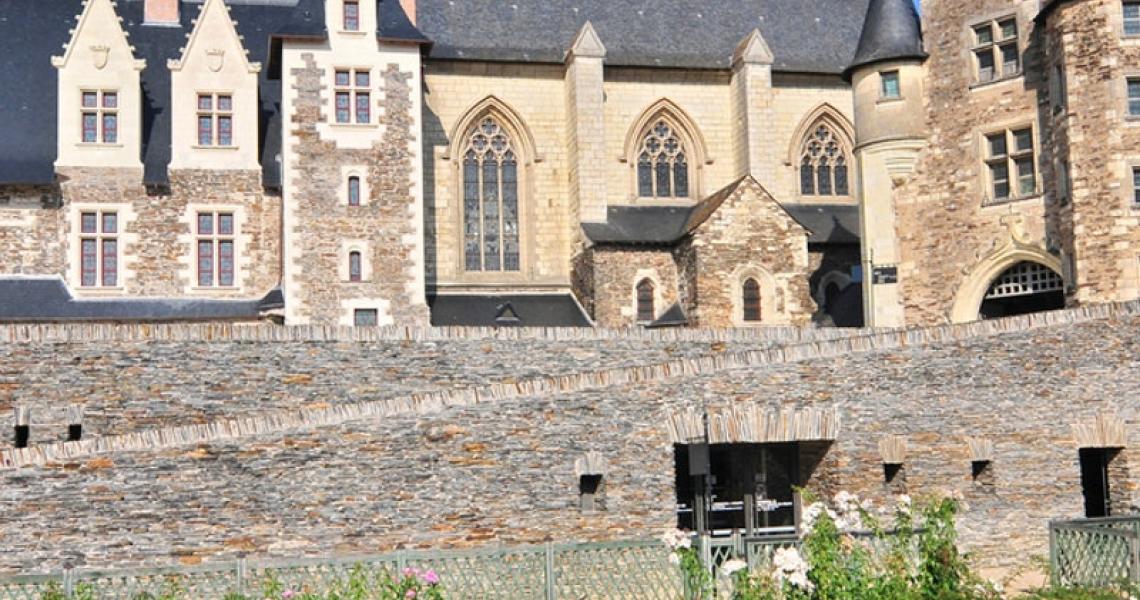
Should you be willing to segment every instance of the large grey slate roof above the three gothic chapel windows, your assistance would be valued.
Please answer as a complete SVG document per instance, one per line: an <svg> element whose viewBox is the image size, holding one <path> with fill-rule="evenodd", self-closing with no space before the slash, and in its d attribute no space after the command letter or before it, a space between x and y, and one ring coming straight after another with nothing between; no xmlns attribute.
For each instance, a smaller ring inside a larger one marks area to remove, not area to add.
<svg viewBox="0 0 1140 600"><path fill-rule="evenodd" d="M562 63L589 21L608 65L727 68L759 29L783 72L840 74L869 0L417 0L432 58Z"/></svg>

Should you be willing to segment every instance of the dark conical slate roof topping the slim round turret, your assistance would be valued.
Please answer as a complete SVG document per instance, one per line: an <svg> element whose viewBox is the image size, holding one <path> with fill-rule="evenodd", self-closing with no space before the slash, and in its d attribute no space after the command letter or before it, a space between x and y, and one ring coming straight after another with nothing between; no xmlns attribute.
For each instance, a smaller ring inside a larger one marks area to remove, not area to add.
<svg viewBox="0 0 1140 600"><path fill-rule="evenodd" d="M926 57L922 24L912 0L871 0L858 50L845 75L883 60Z"/></svg>

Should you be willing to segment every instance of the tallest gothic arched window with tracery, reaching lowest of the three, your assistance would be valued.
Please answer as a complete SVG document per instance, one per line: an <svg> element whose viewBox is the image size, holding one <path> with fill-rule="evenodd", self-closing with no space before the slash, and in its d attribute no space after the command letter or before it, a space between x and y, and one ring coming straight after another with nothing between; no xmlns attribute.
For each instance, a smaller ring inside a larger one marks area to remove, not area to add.
<svg viewBox="0 0 1140 600"><path fill-rule="evenodd" d="M492 117L480 121L467 137L463 234L466 270L520 270L519 156L510 135Z"/></svg>

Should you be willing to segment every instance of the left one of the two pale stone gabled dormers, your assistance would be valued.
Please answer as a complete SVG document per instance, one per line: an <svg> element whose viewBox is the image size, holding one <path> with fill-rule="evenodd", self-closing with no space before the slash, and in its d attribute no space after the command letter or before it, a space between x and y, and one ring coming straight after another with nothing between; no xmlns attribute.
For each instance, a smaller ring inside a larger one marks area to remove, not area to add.
<svg viewBox="0 0 1140 600"><path fill-rule="evenodd" d="M141 169L142 102L139 73L122 19L111 0L87 0L63 56L56 167Z"/></svg>

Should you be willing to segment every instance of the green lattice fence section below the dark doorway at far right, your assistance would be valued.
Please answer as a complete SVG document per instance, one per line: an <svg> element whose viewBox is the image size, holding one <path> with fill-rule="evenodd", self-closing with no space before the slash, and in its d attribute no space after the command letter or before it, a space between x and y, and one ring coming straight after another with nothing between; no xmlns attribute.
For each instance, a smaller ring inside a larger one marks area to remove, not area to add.
<svg viewBox="0 0 1140 600"><path fill-rule="evenodd" d="M1053 521L1049 540L1058 584L1140 583L1140 517Z"/></svg>

